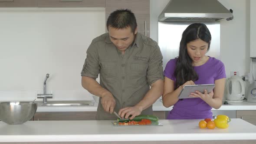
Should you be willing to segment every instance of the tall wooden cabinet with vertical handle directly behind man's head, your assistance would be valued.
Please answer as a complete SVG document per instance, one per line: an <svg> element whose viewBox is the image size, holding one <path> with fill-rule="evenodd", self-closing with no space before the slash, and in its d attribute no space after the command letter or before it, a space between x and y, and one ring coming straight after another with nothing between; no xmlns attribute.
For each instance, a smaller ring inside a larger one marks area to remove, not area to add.
<svg viewBox="0 0 256 144"><path fill-rule="evenodd" d="M146 36L149 34L150 0L105 0L106 21L110 13L117 9L130 9L136 17L138 32ZM107 31L107 30L106 30Z"/></svg>

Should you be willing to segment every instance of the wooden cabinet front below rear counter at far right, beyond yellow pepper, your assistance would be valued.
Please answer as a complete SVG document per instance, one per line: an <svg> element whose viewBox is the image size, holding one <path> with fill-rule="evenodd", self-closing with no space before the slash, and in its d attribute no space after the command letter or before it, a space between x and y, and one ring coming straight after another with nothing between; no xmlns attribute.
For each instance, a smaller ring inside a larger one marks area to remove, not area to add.
<svg viewBox="0 0 256 144"><path fill-rule="evenodd" d="M256 110L236 111L236 118L241 118L251 124L256 125Z"/></svg>

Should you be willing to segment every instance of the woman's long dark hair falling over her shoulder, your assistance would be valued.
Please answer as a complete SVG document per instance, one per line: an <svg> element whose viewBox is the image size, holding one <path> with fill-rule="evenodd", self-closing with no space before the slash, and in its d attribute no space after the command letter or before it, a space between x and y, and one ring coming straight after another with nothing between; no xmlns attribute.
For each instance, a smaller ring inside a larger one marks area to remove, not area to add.
<svg viewBox="0 0 256 144"><path fill-rule="evenodd" d="M207 26L203 23L190 24L184 30L180 43L179 56L176 62L174 76L176 77L175 89L187 81L197 81L198 75L192 66L192 59L187 53L187 43L201 39L208 43L207 52L210 49L211 34Z"/></svg>

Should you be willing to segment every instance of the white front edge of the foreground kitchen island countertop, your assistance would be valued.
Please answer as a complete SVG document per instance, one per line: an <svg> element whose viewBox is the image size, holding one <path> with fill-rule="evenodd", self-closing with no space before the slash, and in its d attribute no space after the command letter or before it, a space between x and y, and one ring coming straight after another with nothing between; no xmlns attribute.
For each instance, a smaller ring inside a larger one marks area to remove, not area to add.
<svg viewBox="0 0 256 144"><path fill-rule="evenodd" d="M131 137L129 136L132 136ZM214 137L213 137L214 135ZM236 134L80 134L0 136L0 142L89 142L89 141L221 141L256 140L256 133Z"/></svg>

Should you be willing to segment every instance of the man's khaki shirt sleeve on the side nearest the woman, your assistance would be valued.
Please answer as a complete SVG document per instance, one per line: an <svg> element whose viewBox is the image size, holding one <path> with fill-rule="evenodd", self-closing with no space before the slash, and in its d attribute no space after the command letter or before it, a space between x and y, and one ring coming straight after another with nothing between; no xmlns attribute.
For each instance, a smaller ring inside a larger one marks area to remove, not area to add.
<svg viewBox="0 0 256 144"><path fill-rule="evenodd" d="M158 45L156 45L150 54L147 72L148 84L151 85L158 79L164 79L163 75L163 56Z"/></svg>

